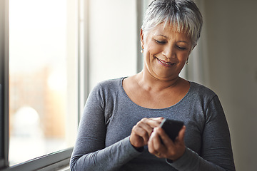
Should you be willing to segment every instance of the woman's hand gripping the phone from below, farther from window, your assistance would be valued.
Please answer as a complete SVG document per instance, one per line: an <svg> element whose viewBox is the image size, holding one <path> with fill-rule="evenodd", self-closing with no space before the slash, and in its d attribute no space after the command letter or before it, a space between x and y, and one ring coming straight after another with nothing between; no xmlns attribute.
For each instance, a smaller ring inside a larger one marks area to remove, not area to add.
<svg viewBox="0 0 257 171"><path fill-rule="evenodd" d="M173 161L177 160L186 150L184 142L185 132L186 126L183 126L178 133L178 137L173 142L162 128L154 128L148 140L148 151L159 158L167 158ZM163 143L161 143L161 140Z"/></svg>

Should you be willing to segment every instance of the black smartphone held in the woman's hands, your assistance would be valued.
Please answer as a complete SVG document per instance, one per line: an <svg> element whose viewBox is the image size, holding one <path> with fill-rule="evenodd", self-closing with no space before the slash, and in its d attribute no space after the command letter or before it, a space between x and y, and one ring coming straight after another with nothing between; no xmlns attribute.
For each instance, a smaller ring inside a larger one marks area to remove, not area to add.
<svg viewBox="0 0 257 171"><path fill-rule="evenodd" d="M163 130L168 135L168 137L174 141L178 136L178 133L183 127L183 125L184 124L182 121L170 120L170 119L164 118L163 121L161 122L160 127L163 128Z"/></svg>

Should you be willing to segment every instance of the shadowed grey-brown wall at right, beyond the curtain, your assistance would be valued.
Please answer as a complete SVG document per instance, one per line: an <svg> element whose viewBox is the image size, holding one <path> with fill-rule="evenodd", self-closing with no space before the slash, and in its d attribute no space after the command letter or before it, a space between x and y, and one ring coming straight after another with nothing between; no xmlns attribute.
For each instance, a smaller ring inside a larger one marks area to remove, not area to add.
<svg viewBox="0 0 257 171"><path fill-rule="evenodd" d="M209 84L221 99L237 170L257 168L257 1L203 0Z"/></svg>

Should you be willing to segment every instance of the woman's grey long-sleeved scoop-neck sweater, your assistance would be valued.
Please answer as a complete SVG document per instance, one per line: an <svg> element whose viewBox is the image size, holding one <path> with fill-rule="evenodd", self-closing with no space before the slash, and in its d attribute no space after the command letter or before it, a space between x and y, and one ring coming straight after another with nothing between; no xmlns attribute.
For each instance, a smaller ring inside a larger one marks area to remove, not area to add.
<svg viewBox="0 0 257 171"><path fill-rule="evenodd" d="M104 81L91 91L71 155L71 170L235 170L221 103L210 89L191 82L185 97L169 108L143 108L126 95L124 78ZM136 93L136 92L135 92ZM129 141L142 118L182 120L186 152L175 162L138 152Z"/></svg>

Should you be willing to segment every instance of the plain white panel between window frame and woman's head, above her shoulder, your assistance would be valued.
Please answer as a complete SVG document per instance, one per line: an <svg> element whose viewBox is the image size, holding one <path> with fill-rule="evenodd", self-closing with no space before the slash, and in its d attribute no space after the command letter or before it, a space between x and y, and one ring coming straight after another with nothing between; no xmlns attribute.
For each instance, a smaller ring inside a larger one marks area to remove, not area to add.
<svg viewBox="0 0 257 171"><path fill-rule="evenodd" d="M136 73L136 1L89 1L90 88Z"/></svg>

